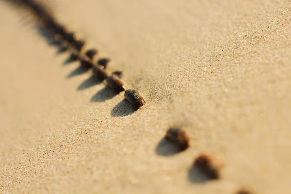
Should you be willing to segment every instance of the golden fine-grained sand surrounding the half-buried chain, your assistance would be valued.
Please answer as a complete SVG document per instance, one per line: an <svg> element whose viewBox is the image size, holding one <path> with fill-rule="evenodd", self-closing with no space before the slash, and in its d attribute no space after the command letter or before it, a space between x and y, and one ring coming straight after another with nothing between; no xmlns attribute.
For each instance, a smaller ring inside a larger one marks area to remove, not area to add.
<svg viewBox="0 0 291 194"><path fill-rule="evenodd" d="M50 3L143 94L134 113L0 4L0 193L290 194L290 0ZM171 126L191 147L166 156ZM189 173L201 152L221 180Z"/></svg>

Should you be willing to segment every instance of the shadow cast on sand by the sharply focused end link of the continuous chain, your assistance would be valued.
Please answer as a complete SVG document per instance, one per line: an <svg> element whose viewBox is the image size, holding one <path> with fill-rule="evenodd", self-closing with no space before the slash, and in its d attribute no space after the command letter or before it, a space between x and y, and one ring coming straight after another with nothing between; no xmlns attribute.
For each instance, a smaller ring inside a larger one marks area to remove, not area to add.
<svg viewBox="0 0 291 194"><path fill-rule="evenodd" d="M134 113L135 110L129 104L126 99L121 100L116 106L111 110L111 115L114 117L124 117Z"/></svg>

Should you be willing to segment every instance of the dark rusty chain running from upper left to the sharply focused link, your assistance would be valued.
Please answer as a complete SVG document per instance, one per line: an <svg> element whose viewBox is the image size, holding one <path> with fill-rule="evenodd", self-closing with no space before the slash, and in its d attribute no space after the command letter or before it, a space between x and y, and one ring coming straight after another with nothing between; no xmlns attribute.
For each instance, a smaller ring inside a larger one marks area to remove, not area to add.
<svg viewBox="0 0 291 194"><path fill-rule="evenodd" d="M69 50L71 52L70 61L81 62L81 67L84 69L92 68L94 77L99 81L105 83L117 94L125 91L125 99L129 101L135 110L146 104L144 98L133 89L127 89L125 83L120 79L121 72L115 71L110 75L106 71L106 65L110 61L109 59L102 58L94 64L94 56L97 54L96 49L90 49L82 52L85 41L76 38L74 32L68 32L65 27L58 23L58 21L46 10L46 8L35 2L34 0L16 0L22 6L30 9L30 11L41 22L42 26L48 30L54 36L54 40L62 45L63 50Z"/></svg>

